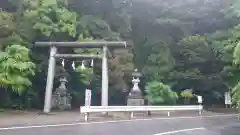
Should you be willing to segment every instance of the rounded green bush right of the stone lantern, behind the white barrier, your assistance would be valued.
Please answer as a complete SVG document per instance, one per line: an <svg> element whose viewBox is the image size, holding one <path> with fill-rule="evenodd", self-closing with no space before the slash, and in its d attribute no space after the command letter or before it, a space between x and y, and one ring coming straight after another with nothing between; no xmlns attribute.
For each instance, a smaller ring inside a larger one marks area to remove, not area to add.
<svg viewBox="0 0 240 135"><path fill-rule="evenodd" d="M152 105L168 104L173 105L178 99L176 92L173 92L168 85L152 81L145 88L146 99Z"/></svg>

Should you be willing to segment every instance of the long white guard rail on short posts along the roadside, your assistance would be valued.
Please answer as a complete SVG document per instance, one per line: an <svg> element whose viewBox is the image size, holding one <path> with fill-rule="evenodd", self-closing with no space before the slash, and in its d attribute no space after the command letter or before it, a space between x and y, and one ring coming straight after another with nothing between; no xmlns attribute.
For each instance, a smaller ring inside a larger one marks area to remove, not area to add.
<svg viewBox="0 0 240 135"><path fill-rule="evenodd" d="M133 118L133 112L148 112L148 111L199 111L202 114L202 105L189 106L81 106L80 112L85 113L85 121L88 120L89 113L93 112L130 112ZM168 112L170 116L170 112Z"/></svg>

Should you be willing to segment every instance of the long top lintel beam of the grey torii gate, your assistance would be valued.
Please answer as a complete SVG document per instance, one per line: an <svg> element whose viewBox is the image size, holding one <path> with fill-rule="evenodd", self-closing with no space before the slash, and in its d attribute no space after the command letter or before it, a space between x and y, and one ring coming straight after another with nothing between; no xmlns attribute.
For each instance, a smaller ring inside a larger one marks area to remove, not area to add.
<svg viewBox="0 0 240 135"><path fill-rule="evenodd" d="M67 47L67 48L101 48L103 46L123 48L127 47L125 41L83 41L83 42L35 42L38 47Z"/></svg>

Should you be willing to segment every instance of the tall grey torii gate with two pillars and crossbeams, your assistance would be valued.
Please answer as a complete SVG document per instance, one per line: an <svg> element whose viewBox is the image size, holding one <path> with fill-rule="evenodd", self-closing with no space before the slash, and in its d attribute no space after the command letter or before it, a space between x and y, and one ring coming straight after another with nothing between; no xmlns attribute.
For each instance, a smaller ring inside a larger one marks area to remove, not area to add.
<svg viewBox="0 0 240 135"><path fill-rule="evenodd" d="M44 113L51 111L52 88L55 75L56 58L101 58L102 59L102 95L101 105L108 106L108 47L126 48L125 41L86 41L86 42L36 42L38 47L50 47L48 75L45 91ZM102 55L58 54L57 48L102 48Z"/></svg>

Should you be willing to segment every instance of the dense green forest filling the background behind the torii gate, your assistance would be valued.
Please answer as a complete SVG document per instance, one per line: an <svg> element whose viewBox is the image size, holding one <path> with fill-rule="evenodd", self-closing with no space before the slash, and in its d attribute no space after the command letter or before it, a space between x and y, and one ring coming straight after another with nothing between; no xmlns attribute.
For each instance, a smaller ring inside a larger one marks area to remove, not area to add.
<svg viewBox="0 0 240 135"><path fill-rule="evenodd" d="M1 108L43 107L49 48L36 48L36 41L99 39L129 45L109 50L110 104L125 103L134 68L152 104L175 104L191 93L204 104L224 104L226 91L240 104L239 0L1 0L0 8ZM56 78L69 75L72 105L84 104L89 87L93 104L100 104L101 61L91 67L85 60L84 70L81 59L75 70L71 59L65 69L61 61Z"/></svg>

